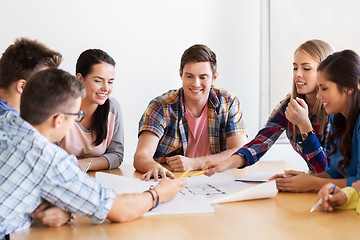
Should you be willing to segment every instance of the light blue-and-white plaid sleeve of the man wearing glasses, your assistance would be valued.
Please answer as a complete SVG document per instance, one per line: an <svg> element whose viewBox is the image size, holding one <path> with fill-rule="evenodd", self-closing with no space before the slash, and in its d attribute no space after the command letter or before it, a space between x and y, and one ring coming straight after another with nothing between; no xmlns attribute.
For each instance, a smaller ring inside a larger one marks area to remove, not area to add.
<svg viewBox="0 0 360 240"><path fill-rule="evenodd" d="M92 222L103 222L110 211L115 191L103 187L77 166L76 157L55 153L42 183L41 197L49 203L88 216Z"/></svg>

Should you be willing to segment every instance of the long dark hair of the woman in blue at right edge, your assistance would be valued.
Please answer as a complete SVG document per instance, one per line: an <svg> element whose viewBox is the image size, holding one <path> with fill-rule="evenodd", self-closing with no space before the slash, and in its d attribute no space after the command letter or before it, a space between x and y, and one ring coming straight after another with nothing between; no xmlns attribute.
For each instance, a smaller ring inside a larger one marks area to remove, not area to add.
<svg viewBox="0 0 360 240"><path fill-rule="evenodd" d="M360 114L360 58L352 50L336 52L327 57L317 71L323 72L327 80L336 83L339 91L343 88L354 90L349 115L345 118L340 113L334 114L334 132L329 137L329 143L333 147L330 156L337 150L334 140L340 138L340 153L344 159L339 162L338 168L344 174L344 169L350 164L352 137Z"/></svg>

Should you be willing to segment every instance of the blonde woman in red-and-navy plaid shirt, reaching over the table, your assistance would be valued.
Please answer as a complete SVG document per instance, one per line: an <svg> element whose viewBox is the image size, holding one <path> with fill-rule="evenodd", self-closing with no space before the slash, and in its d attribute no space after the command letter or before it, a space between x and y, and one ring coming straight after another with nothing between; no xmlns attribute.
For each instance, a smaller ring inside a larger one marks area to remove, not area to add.
<svg viewBox="0 0 360 240"><path fill-rule="evenodd" d="M294 53L292 94L273 110L265 127L251 142L222 162L207 162L206 175L254 164L284 131L309 169L314 173L324 171L328 165L326 150L330 127L324 107L316 99L316 80L317 67L333 52L333 48L321 40L301 44Z"/></svg>

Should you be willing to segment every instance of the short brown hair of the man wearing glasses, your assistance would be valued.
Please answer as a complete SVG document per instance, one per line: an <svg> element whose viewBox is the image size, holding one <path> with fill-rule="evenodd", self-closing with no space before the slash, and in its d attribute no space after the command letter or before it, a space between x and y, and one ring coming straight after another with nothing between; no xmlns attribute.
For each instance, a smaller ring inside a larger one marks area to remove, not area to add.
<svg viewBox="0 0 360 240"><path fill-rule="evenodd" d="M21 95L20 116L39 125L54 113L68 111L73 100L84 96L84 85L75 76L60 69L46 69L27 81Z"/></svg>

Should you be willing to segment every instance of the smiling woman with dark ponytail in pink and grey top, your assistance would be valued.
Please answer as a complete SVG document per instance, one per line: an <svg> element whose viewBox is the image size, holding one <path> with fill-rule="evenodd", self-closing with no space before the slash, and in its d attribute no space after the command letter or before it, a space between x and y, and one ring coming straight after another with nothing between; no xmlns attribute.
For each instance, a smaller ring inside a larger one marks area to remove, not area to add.
<svg viewBox="0 0 360 240"><path fill-rule="evenodd" d="M120 106L109 98L115 80L115 61L100 49L80 54L76 77L85 86L86 97L81 109L85 117L76 122L60 146L74 154L79 166L89 170L112 169L120 166L124 155L124 130Z"/></svg>

